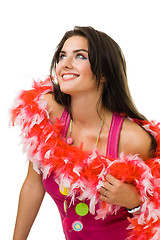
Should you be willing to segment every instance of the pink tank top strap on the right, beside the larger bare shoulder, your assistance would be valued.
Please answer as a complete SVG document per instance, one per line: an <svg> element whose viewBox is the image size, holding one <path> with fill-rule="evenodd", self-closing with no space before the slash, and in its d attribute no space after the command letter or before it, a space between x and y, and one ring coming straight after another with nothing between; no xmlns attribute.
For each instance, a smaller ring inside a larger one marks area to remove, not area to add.
<svg viewBox="0 0 160 240"><path fill-rule="evenodd" d="M121 116L120 114L115 112L113 113L107 140L106 156L118 158L119 136L124 119L125 117Z"/></svg>

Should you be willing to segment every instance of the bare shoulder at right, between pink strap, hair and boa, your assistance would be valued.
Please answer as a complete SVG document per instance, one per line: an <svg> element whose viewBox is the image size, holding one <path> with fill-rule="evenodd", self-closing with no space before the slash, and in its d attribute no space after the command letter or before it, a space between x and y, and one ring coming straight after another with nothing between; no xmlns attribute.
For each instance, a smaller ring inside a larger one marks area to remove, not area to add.
<svg viewBox="0 0 160 240"><path fill-rule="evenodd" d="M153 151L151 151L152 138L141 126L125 119L120 135L119 152L128 154L139 154L143 160L151 158Z"/></svg>

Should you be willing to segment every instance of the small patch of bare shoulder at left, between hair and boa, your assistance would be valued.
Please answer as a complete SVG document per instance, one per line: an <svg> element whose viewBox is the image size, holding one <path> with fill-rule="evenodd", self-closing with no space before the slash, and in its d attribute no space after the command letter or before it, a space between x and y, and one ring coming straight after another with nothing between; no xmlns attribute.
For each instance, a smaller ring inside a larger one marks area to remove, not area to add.
<svg viewBox="0 0 160 240"><path fill-rule="evenodd" d="M47 102L47 107L49 109L50 118L54 121L55 117L60 118L64 110L64 106L57 103L54 99L52 93L47 93L44 95L44 100Z"/></svg>

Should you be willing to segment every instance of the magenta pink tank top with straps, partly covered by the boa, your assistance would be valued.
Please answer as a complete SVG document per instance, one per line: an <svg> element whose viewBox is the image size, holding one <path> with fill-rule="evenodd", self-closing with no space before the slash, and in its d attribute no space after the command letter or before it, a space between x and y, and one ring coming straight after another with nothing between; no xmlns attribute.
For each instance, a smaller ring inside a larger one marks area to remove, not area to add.
<svg viewBox="0 0 160 240"><path fill-rule="evenodd" d="M66 110L63 111L60 118L64 124L63 135L67 136L68 127L70 123L70 115ZM117 158L118 157L118 143L121 127L124 121L124 117L118 113L113 113L112 121L110 125L106 155ZM60 193L59 186L54 181L54 173L52 173L47 179L43 180L43 186L49 195L53 198L57 204L60 212L61 220L66 218L64 211L65 197ZM80 203L79 200L75 201L75 205L70 206L67 209L67 215L72 221L78 220L79 216L75 211L75 206ZM87 201L86 201L87 203ZM69 199L68 199L69 206ZM83 223L82 231L66 231L63 229L66 240L125 240L129 230L126 230L129 222L127 217L131 215L127 212L126 208L120 208L117 214L108 215L104 220L95 220L95 215L88 213L86 216L81 217ZM55 233L56 236L56 233ZM54 238L54 237L53 237Z"/></svg>

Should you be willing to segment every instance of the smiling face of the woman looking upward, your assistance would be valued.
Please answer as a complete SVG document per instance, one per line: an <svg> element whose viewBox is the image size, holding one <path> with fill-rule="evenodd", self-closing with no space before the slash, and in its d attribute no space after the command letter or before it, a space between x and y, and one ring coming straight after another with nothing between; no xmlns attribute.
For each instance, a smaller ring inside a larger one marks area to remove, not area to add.
<svg viewBox="0 0 160 240"><path fill-rule="evenodd" d="M59 54L56 76L60 89L66 94L97 92L96 78L88 59L88 42L82 36L67 39Z"/></svg>

